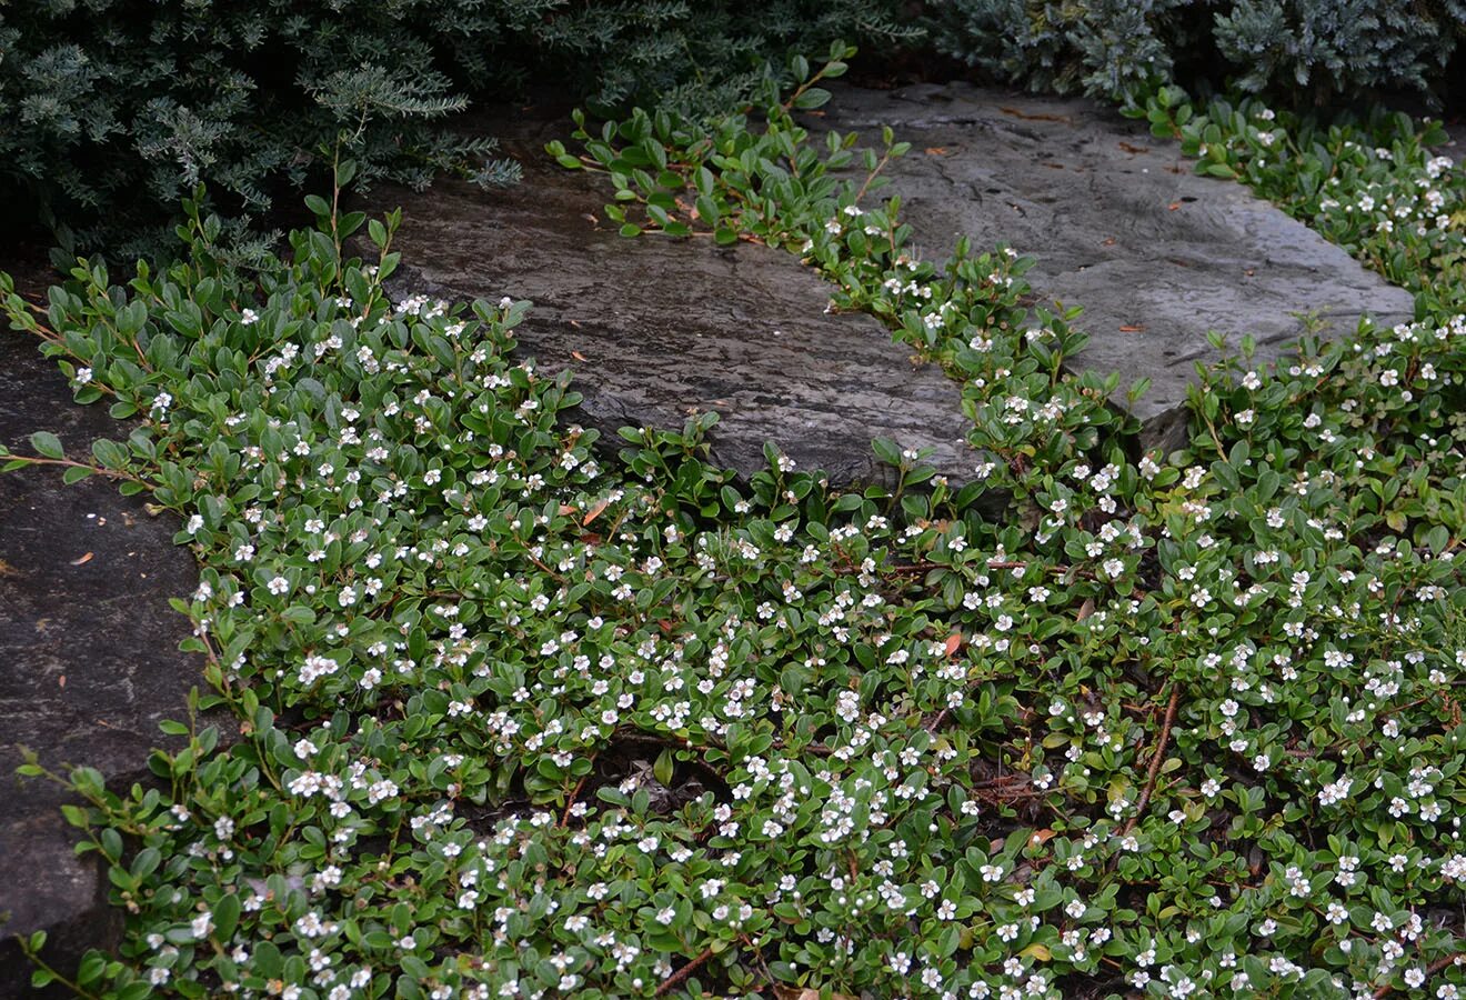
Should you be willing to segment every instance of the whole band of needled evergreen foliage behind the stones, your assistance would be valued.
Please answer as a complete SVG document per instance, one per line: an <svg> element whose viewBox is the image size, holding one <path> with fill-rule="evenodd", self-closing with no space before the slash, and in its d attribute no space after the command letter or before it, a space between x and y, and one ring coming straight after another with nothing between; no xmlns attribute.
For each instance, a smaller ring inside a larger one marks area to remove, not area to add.
<svg viewBox="0 0 1466 1000"><path fill-rule="evenodd" d="M1440 89L1462 23L1462 0L45 0L0 7L0 183L67 248L130 255L207 182L245 260L264 240L242 223L342 150L362 188L512 182L449 116L532 81L708 114L771 53L855 34L1039 89L1132 100L1209 73L1327 100Z"/></svg>

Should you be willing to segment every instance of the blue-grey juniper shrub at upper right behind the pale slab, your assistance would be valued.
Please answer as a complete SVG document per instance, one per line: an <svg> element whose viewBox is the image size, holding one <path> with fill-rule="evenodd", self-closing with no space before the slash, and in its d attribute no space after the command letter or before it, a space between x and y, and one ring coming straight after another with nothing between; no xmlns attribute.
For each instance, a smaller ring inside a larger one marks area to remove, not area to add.
<svg viewBox="0 0 1466 1000"><path fill-rule="evenodd" d="M951 0L940 50L1034 89L1127 100L1177 63L1243 92L1328 104L1431 94L1460 44L1459 0ZM1192 81L1186 81L1187 84Z"/></svg>

